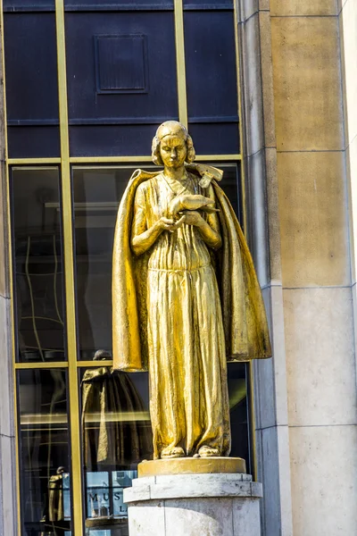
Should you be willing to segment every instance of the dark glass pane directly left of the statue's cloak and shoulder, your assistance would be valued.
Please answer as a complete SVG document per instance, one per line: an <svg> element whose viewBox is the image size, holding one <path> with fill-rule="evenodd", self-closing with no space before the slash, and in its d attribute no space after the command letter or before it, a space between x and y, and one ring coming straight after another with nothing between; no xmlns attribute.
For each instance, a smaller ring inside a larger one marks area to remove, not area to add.
<svg viewBox="0 0 357 536"><path fill-rule="evenodd" d="M80 359L93 359L100 349L112 352L114 229L120 199L137 167L73 169ZM143 167L158 169L149 163Z"/></svg>

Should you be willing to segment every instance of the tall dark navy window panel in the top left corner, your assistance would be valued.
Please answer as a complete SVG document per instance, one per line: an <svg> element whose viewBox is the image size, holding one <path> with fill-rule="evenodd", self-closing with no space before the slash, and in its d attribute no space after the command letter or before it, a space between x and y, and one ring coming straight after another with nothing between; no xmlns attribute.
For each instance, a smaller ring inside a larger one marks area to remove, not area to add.
<svg viewBox="0 0 357 536"><path fill-rule="evenodd" d="M4 54L8 119L58 119L54 13L5 13Z"/></svg>

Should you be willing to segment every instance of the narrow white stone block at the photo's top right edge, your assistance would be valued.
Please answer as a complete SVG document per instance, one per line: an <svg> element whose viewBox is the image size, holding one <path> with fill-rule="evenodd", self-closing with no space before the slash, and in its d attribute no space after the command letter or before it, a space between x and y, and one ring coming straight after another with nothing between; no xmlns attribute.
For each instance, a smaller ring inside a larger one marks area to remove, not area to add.
<svg viewBox="0 0 357 536"><path fill-rule="evenodd" d="M347 0L341 13L345 71L346 143L357 136L357 2Z"/></svg>

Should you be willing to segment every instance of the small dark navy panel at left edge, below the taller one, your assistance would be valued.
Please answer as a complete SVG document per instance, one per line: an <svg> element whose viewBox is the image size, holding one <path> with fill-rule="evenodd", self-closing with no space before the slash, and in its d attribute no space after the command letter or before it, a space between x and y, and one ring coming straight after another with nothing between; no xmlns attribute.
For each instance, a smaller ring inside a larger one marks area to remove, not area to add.
<svg viewBox="0 0 357 536"><path fill-rule="evenodd" d="M9 158L51 158L60 156L58 127L8 127Z"/></svg>

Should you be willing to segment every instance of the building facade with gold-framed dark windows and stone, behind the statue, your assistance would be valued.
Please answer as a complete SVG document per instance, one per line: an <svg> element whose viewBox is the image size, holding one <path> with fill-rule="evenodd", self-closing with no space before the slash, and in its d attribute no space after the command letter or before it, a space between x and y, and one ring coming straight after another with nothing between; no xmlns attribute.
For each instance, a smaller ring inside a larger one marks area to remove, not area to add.
<svg viewBox="0 0 357 536"><path fill-rule="evenodd" d="M150 423L145 374L109 372L112 230L178 119L269 315L273 358L228 369L262 535L353 536L355 1L4 0L1 29L0 535L127 533Z"/></svg>

